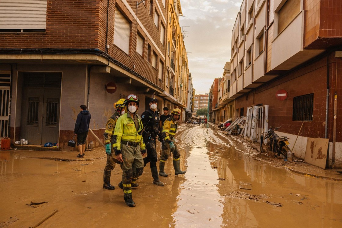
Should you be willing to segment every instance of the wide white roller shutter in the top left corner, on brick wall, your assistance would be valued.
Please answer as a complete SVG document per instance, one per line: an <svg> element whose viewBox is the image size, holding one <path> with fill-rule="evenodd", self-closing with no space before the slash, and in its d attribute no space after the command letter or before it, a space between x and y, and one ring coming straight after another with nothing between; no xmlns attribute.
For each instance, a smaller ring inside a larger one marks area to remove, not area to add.
<svg viewBox="0 0 342 228"><path fill-rule="evenodd" d="M45 29L47 0L1 0L0 29Z"/></svg>

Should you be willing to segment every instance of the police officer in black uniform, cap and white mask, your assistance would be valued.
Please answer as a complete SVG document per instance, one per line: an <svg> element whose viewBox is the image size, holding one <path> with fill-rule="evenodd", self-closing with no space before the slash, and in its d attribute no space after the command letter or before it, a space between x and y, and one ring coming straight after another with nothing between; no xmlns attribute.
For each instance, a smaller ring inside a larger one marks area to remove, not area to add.
<svg viewBox="0 0 342 228"><path fill-rule="evenodd" d="M151 98L149 100L150 108L143 112L141 115L141 120L143 122L145 131L143 132L143 140L146 145L147 157L144 158L144 166L150 162L153 184L158 186L164 186L159 180L158 170L157 170L157 150L156 150L156 137L162 144L165 144L165 140L162 139L160 126L159 126L159 112L157 111L158 100L156 98Z"/></svg>

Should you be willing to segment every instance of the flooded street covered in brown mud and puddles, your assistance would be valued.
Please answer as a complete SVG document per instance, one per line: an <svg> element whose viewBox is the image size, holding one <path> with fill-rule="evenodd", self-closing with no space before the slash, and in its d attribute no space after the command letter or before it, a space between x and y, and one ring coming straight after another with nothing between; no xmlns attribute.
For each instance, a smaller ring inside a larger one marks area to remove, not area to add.
<svg viewBox="0 0 342 228"><path fill-rule="evenodd" d="M152 184L149 165L132 189L136 207L102 188L100 158L56 161L0 152L0 227L341 227L342 183L306 177L256 158L255 151L216 128L182 124L177 131L184 175L166 162L164 187ZM157 145L157 148L160 146ZM50 152L51 153L51 152ZM58 152L49 157L58 158ZM76 156L76 152L75 156ZM87 152L85 158L91 157ZM159 162L157 163L159 164ZM246 183L241 189L240 182ZM250 184L250 185L249 185ZM47 201L32 207L31 201Z"/></svg>

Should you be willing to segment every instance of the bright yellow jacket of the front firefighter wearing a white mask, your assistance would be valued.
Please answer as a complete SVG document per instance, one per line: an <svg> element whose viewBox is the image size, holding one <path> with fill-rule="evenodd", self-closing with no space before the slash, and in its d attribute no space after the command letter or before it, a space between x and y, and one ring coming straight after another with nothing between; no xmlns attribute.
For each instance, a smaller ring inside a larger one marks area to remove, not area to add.
<svg viewBox="0 0 342 228"><path fill-rule="evenodd" d="M123 114L120 116L115 125L114 137L112 137L111 142L115 154L117 155L117 151L121 150L121 141L129 141L132 143L139 143L140 149L145 149L145 143L143 141L143 136L139 135L138 132L143 130L143 123L139 115L135 114L135 118L137 118L139 123L139 130L136 131L134 120L132 119L130 113Z"/></svg>

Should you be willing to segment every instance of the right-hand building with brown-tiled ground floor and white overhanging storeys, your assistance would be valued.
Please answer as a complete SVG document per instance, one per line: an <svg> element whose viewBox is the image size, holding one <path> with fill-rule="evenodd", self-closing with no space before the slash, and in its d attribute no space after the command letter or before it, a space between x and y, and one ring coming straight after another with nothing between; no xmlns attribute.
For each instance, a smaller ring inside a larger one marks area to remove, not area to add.
<svg viewBox="0 0 342 228"><path fill-rule="evenodd" d="M293 152L329 138L329 166L342 167L342 5L340 0L243 0L232 30L229 98L233 117L268 105Z"/></svg>

